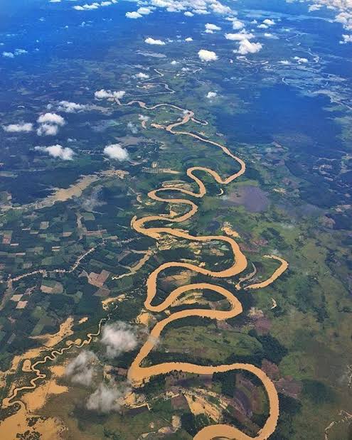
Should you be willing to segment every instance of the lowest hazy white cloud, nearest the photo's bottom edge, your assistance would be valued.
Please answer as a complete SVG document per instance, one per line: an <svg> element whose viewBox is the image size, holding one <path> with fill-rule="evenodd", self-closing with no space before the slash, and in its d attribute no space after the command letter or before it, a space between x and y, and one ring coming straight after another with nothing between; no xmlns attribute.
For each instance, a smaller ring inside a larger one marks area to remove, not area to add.
<svg viewBox="0 0 352 440"><path fill-rule="evenodd" d="M107 414L119 411L124 403L124 395L127 388L119 390L116 385L101 383L97 390L87 399L87 409Z"/></svg>

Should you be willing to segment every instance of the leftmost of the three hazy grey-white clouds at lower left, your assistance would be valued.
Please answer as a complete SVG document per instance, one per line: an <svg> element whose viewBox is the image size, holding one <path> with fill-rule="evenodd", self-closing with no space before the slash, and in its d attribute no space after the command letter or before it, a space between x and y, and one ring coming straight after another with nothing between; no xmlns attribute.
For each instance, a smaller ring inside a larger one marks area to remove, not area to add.
<svg viewBox="0 0 352 440"><path fill-rule="evenodd" d="M90 350L82 351L75 359L71 360L65 369L65 375L70 380L80 385L89 386L95 375L94 364L97 356Z"/></svg>

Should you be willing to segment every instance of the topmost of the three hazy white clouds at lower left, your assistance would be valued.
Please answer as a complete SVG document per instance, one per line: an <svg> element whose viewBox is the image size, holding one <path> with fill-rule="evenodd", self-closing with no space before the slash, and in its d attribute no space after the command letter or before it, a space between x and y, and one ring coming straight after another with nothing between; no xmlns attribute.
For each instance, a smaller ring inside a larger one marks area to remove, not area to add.
<svg viewBox="0 0 352 440"><path fill-rule="evenodd" d="M117 321L116 323L106 324L102 328L101 343L107 349L107 357L114 358L121 353L134 350L137 347L138 340L132 326Z"/></svg>

